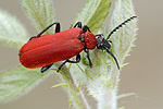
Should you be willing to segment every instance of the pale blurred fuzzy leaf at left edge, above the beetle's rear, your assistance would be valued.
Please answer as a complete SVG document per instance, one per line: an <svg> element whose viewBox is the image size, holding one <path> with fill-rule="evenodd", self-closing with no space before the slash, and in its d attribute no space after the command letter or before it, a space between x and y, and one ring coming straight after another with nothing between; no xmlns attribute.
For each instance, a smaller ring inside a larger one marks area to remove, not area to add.
<svg viewBox="0 0 163 109"><path fill-rule="evenodd" d="M14 16L0 10L0 44L20 48L26 43L27 32Z"/></svg>

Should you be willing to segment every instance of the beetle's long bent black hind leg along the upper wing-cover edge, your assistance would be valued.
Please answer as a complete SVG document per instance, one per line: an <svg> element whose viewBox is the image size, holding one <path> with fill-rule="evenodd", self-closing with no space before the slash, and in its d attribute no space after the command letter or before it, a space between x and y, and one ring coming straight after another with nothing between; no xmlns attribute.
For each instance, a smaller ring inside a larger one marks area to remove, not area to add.
<svg viewBox="0 0 163 109"><path fill-rule="evenodd" d="M42 32L40 32L37 36L34 36L34 37L30 37L29 40L32 40L33 38L36 38L36 37L40 37L46 31L48 31L51 26L53 25L57 25L55 27L55 33L59 33L60 32L60 23L59 22L54 22L52 23L51 25L49 25L48 27L46 27Z"/></svg>

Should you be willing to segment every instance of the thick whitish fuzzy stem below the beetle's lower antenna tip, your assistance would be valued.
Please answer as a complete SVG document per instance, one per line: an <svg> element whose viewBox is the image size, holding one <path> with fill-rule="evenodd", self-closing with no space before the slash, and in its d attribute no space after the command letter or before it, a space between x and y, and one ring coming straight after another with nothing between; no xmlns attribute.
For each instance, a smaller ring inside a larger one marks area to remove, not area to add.
<svg viewBox="0 0 163 109"><path fill-rule="evenodd" d="M116 109L117 107L120 71L116 66L113 66L110 82L101 88L98 99L98 109Z"/></svg>

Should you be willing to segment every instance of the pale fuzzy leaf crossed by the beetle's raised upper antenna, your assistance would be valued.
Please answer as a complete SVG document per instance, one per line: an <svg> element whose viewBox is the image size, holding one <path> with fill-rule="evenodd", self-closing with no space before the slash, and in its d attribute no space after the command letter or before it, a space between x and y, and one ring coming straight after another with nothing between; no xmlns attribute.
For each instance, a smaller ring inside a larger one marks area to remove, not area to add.
<svg viewBox="0 0 163 109"><path fill-rule="evenodd" d="M115 28L118 24L134 15L135 11L131 0L116 0L115 10L111 16L110 28ZM134 47L133 45L138 29L136 22L137 19L129 21L111 36L111 40L113 41L113 51L120 57L118 59L122 62L124 61L125 56L129 53L131 47Z"/></svg>

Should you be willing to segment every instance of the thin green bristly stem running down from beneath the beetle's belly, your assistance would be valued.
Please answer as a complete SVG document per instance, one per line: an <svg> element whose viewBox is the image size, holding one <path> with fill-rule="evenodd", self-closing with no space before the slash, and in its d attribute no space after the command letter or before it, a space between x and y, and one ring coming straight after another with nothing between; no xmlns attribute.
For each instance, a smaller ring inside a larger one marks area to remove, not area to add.
<svg viewBox="0 0 163 109"><path fill-rule="evenodd" d="M73 101L75 109L90 109L82 89L78 89L78 86L73 80L70 71L64 68L64 70L61 71L61 75L63 77L64 83L66 83L67 85L66 90L68 90L70 99Z"/></svg>

